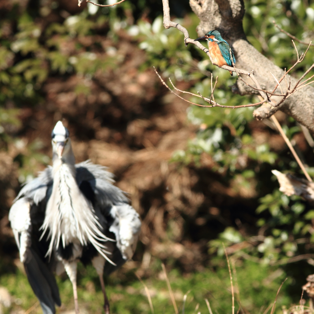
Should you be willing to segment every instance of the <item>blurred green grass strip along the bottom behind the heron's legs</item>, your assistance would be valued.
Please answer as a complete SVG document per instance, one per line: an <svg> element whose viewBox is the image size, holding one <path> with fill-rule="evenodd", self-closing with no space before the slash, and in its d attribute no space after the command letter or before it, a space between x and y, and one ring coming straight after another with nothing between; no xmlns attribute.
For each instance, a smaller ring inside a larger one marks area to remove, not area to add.
<svg viewBox="0 0 314 314"><path fill-rule="evenodd" d="M111 274L107 280L106 290L113 314L151 313L147 290L151 296L155 314L173 314L176 312L161 262L154 260L151 267L156 271L148 278L143 278L143 283L147 286L146 291L136 277L135 269L126 271L124 268L124 271ZM261 266L241 260L236 261L236 270L236 273L233 273L235 299L240 298L246 313L263 314L268 306L274 302L277 290L286 278L286 274L280 268ZM205 268L202 272L182 274L178 269L172 269L168 273L168 278L179 313L182 312L183 297L189 291L185 297L185 313L192 314L197 306L198 309L195 313L208 313L205 301L208 299L213 314L231 314L230 276L225 260L220 260L219 266ZM57 313L73 310L72 285L69 279L66 276L61 276L57 278L57 283L62 300L62 306L57 309ZM293 284L293 279L288 278L281 288L273 313L282 313L282 306L289 307L293 303L293 298L287 290L290 284ZM0 285L8 289L14 300L11 307L4 309L4 314L16 313L20 310L26 311L37 301L26 276L19 269L16 270L16 273L2 274ZM82 314L103 313L103 296L98 276L91 266L84 268L80 265L78 268L78 298ZM236 312L238 308L239 305L236 301ZM34 308L31 313L42 313L40 306ZM270 314L270 308L268 314Z"/></svg>

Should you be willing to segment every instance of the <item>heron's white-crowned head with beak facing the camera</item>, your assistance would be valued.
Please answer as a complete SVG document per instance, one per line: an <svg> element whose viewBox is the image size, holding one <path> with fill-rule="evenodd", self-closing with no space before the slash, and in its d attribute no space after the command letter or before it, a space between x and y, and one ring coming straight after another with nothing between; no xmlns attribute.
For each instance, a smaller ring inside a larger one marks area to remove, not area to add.
<svg viewBox="0 0 314 314"><path fill-rule="evenodd" d="M69 130L58 121L51 132L53 158L67 159L68 154L73 154L69 135Z"/></svg>

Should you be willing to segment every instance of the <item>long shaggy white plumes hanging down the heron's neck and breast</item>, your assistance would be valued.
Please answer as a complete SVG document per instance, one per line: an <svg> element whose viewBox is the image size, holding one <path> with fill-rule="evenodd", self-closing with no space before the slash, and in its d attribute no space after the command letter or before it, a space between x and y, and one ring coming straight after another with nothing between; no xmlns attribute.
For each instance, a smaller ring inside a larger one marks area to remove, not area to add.
<svg viewBox="0 0 314 314"><path fill-rule="evenodd" d="M60 239L63 247L79 241L82 246L89 242L110 263L114 264L106 254L106 246L102 243L112 241L102 232L102 227L95 215L91 202L85 198L75 180L75 166L54 160L52 174L53 186L46 206L44 223L41 226L42 236L48 231L50 237L46 256L51 256L58 249Z"/></svg>

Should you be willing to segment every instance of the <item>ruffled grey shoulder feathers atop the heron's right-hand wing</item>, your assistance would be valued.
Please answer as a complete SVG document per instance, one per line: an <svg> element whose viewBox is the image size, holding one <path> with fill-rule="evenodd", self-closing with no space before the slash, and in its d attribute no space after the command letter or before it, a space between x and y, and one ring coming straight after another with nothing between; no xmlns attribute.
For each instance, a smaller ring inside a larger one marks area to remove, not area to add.
<svg viewBox="0 0 314 314"><path fill-rule="evenodd" d="M95 203L100 208L107 208L117 203L128 203L125 193L112 185L113 174L101 165L95 165L90 160L83 161L76 167L76 181L80 187L83 181L89 182L95 196ZM82 191L84 193L84 191Z"/></svg>

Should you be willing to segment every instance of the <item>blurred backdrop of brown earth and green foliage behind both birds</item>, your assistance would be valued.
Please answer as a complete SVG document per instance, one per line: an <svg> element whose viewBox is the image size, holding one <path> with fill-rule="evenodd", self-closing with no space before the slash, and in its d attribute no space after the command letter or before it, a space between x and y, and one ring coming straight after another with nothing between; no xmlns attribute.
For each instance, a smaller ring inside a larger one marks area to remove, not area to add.
<svg viewBox="0 0 314 314"><path fill-rule="evenodd" d="M100 4L110 4L99 0ZM197 38L198 18L188 1L171 0L173 20ZM281 68L296 61L291 39L313 39L314 1L246 1L248 40ZM314 209L279 192L271 170L302 176L271 121L255 121L252 108L191 107L171 94L154 73L177 88L241 105L255 96L232 94L235 75L210 64L203 51L185 47L176 29L165 30L162 3L127 0L110 8L76 0L0 1L0 313L25 313L36 303L8 222L21 184L51 164L51 130L68 127L76 161L91 159L116 176L143 221L133 261L107 279L113 313L173 313L164 262L179 309L231 311L230 254L236 299L242 312L263 313L275 298L298 303L306 276L314 273ZM295 43L299 52L305 45ZM293 72L314 61L311 47ZM311 74L311 73L310 73ZM167 81L168 82L168 81ZM189 100L200 102L193 97ZM276 117L301 160L314 175L313 147L300 125ZM73 310L67 276L57 279L58 313ZM101 313L102 294L92 267L79 266L82 313ZM237 310L236 306L236 310ZM40 306L32 313L41 313Z"/></svg>

